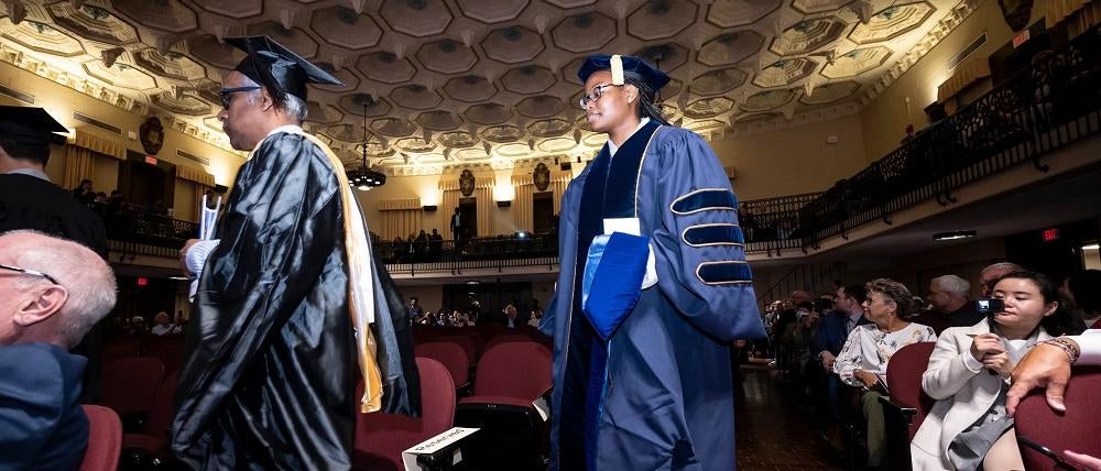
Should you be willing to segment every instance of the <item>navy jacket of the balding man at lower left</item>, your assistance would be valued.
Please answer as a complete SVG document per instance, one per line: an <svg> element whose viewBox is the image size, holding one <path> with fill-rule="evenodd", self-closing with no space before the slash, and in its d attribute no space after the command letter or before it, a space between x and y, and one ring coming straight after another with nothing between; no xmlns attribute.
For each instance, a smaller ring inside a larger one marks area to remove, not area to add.
<svg viewBox="0 0 1101 471"><path fill-rule="evenodd" d="M87 360L48 343L0 346L0 470L76 470L88 445L78 403Z"/></svg>

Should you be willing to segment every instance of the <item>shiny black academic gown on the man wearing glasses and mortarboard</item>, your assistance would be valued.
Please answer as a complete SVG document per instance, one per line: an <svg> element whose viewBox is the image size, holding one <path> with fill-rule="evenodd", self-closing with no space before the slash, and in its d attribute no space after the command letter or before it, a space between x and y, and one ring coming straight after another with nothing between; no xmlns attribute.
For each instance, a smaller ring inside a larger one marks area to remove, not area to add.
<svg viewBox="0 0 1101 471"><path fill-rule="evenodd" d="M188 467L350 467L360 374L340 189L301 134L268 136L241 167L186 332L172 448ZM416 413L372 278L383 409Z"/></svg>

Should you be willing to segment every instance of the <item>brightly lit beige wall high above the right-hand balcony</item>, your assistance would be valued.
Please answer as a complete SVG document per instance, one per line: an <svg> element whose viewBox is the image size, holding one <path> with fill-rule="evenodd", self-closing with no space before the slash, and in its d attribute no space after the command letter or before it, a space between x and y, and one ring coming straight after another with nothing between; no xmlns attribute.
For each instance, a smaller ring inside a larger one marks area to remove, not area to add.
<svg viewBox="0 0 1101 471"><path fill-rule="evenodd" d="M1034 9L1034 21L1036 18ZM1013 37L994 0L983 1L963 23L861 110L864 155L869 163L898 146L906 135L906 124L913 123L920 130L928 123L924 109L936 101L937 87L951 77L948 61L983 32L986 33L986 43L971 54L972 58L989 57Z"/></svg>

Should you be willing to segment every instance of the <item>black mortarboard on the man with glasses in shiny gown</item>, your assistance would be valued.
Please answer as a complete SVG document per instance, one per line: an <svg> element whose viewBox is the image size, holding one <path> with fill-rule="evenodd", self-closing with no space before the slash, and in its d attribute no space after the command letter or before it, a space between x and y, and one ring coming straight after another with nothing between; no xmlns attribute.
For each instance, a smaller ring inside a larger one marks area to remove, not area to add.
<svg viewBox="0 0 1101 471"><path fill-rule="evenodd" d="M283 47L271 37L227 37L226 42L247 54L235 69L266 87L275 101L281 105L284 94L305 101L306 84L344 85L333 74Z"/></svg>

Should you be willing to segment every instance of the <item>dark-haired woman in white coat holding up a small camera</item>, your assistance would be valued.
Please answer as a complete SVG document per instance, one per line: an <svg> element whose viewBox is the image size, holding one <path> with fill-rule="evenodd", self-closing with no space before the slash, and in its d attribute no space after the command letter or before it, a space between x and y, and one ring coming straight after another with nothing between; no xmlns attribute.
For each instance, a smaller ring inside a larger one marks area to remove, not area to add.
<svg viewBox="0 0 1101 471"><path fill-rule="evenodd" d="M1024 469L1006 416L1010 373L1037 342L1079 331L1043 274L1010 273L992 295L1005 303L993 325L949 328L933 351L922 388L937 404L911 443L915 470Z"/></svg>

